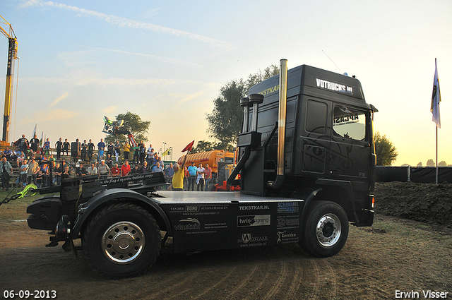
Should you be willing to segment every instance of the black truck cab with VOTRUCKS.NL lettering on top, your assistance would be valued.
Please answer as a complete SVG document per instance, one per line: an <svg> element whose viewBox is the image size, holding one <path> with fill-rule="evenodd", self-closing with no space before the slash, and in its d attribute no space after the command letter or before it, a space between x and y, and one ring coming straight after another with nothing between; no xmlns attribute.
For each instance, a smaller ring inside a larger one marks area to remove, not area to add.
<svg viewBox="0 0 452 300"><path fill-rule="evenodd" d="M375 107L364 99L359 80L314 68L297 66L287 71L287 100L280 103L280 75L249 90L249 102L261 95L258 108L245 104L244 133L239 135L240 153L250 147L244 162L242 193L259 196L316 198L338 203L357 225L373 222L372 193L376 155L372 118ZM249 109L246 109L246 106ZM280 107L285 119L278 119ZM256 131L253 126L257 111ZM284 142L278 134L284 130ZM249 145L250 136L258 142ZM278 162L278 152L283 152ZM280 173L278 174L278 163ZM282 171L282 172L281 172ZM256 174L260 178L256 179ZM283 178L278 188L269 183Z"/></svg>

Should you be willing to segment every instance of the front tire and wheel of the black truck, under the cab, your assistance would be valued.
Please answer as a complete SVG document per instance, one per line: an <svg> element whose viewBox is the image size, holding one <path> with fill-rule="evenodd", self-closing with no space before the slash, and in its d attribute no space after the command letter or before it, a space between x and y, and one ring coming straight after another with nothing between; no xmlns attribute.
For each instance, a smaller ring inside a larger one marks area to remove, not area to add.
<svg viewBox="0 0 452 300"><path fill-rule="evenodd" d="M345 245L348 236L347 214L331 201L309 205L300 244L304 251L317 257L334 256Z"/></svg>

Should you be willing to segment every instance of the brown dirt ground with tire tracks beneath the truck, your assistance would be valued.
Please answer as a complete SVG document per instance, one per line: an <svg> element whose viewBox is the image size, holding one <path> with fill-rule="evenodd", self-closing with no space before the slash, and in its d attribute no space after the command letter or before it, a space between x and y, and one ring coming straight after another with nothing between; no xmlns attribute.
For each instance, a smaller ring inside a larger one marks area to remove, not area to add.
<svg viewBox="0 0 452 300"><path fill-rule="evenodd" d="M387 194L397 186L378 188ZM406 188L400 193L412 186ZM0 216L26 217L24 208L11 208L0 206ZM0 218L0 228L1 296L28 289L55 290L58 299L396 299L396 291L413 291L424 299L422 291L432 290L452 298L452 230L398 217L377 215L370 228L350 227L345 247L331 258L313 258L297 244L162 251L148 272L124 280L100 277L81 252L74 258L61 246L45 248L47 233L24 221Z"/></svg>

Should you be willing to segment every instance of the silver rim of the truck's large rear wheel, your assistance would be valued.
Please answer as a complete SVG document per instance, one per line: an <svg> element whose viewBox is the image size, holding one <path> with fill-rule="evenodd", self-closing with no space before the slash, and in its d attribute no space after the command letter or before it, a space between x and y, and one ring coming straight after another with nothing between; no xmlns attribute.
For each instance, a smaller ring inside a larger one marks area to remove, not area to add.
<svg viewBox="0 0 452 300"><path fill-rule="evenodd" d="M137 224L117 222L102 236L102 251L117 264L131 263L143 253L145 237Z"/></svg>

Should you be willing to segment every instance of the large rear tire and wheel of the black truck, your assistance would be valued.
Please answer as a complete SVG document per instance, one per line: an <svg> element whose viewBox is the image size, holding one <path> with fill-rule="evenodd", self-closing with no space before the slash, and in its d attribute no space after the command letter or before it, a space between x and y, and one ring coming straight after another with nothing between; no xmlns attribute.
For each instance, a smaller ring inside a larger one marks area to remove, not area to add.
<svg viewBox="0 0 452 300"><path fill-rule="evenodd" d="M112 279L141 275L155 263L160 245L155 218L132 203L115 203L97 212L82 237L88 264Z"/></svg>

